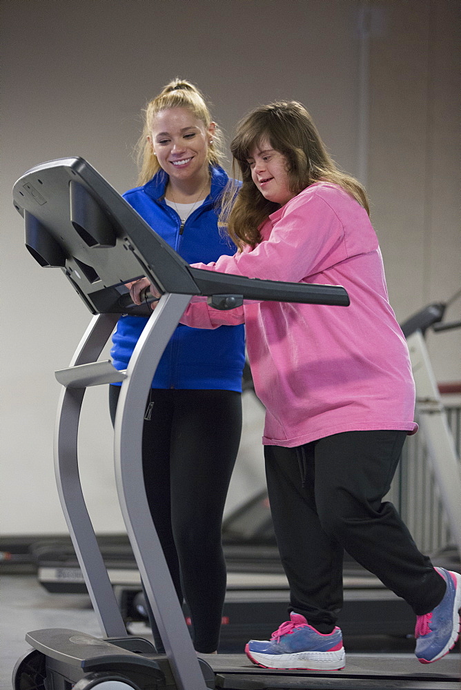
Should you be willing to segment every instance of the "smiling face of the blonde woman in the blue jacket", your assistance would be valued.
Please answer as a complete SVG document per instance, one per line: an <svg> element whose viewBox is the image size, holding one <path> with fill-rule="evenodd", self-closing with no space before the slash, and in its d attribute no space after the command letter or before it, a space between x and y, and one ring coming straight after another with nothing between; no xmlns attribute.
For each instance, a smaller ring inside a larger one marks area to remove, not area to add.
<svg viewBox="0 0 461 690"><path fill-rule="evenodd" d="M170 179L199 179L204 168L208 170L208 146L215 126L212 122L206 128L188 108L168 108L157 113L148 140Z"/></svg>

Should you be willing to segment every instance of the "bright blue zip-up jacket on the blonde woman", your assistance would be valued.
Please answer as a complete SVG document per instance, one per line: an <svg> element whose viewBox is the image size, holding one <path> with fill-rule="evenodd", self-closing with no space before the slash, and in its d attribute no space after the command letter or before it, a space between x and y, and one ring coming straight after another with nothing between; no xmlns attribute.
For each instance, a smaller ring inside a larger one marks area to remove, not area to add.
<svg viewBox="0 0 461 690"><path fill-rule="evenodd" d="M190 214L182 234L179 234L179 215L164 200L168 176L163 170L144 186L128 190L123 195L128 204L188 264L208 264L222 254L235 254L235 246L230 240L219 235L214 206L228 177L219 167L210 168L210 172L210 194L202 206ZM110 351L117 369L128 366L147 321L147 318L139 316L120 317ZM179 324L160 359L152 387L242 391L244 362L244 326L220 326L209 331Z"/></svg>

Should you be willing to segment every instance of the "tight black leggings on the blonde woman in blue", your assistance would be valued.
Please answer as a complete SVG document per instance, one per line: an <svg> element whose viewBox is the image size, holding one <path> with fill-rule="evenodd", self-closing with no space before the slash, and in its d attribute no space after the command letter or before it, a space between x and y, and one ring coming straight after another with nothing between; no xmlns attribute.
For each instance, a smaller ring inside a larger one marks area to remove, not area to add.
<svg viewBox="0 0 461 690"><path fill-rule="evenodd" d="M113 423L120 387L109 390ZM226 593L221 525L242 431L241 395L153 388L148 403L142 455L150 513L179 601L184 596L190 610L194 647L209 653L219 642ZM154 625L153 632L157 638Z"/></svg>

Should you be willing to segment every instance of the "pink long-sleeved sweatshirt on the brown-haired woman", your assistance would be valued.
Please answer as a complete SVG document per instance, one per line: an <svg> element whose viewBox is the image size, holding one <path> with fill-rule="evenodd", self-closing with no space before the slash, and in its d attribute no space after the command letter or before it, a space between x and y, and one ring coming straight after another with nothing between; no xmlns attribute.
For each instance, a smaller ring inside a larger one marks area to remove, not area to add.
<svg viewBox="0 0 461 690"><path fill-rule="evenodd" d="M251 278L342 285L349 307L253 302L218 311L191 302L182 323L246 326L255 392L266 407L264 444L300 446L343 431L415 433L408 348L389 305L366 211L318 182L262 225L262 242L196 268Z"/></svg>

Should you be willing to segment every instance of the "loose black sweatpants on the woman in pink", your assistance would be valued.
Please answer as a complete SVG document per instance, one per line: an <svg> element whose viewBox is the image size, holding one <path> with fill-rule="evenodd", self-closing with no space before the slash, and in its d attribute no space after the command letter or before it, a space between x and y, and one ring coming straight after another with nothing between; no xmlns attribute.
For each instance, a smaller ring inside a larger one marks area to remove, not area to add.
<svg viewBox="0 0 461 690"><path fill-rule="evenodd" d="M296 448L265 446L291 611L322 633L333 630L342 607L344 549L417 615L443 598L444 580L394 506L382 502L405 437L405 431L349 431Z"/></svg>

